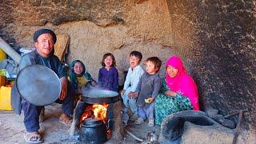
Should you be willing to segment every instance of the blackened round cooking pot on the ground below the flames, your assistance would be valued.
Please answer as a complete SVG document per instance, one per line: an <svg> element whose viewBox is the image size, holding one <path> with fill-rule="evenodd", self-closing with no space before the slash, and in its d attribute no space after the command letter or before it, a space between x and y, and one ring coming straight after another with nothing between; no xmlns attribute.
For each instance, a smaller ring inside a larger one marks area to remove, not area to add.
<svg viewBox="0 0 256 144"><path fill-rule="evenodd" d="M79 130L79 140L85 143L104 143L107 141L106 124L100 118L86 118Z"/></svg>

